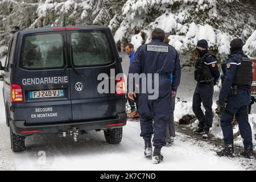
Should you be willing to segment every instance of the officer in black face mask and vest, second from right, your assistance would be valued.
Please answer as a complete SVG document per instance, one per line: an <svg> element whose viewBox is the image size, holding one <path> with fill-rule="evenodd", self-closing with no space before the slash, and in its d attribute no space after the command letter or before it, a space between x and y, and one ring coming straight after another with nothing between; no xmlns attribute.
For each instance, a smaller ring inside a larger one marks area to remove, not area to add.
<svg viewBox="0 0 256 182"><path fill-rule="evenodd" d="M197 135L203 134L203 138L208 138L209 129L212 127L213 121L213 86L217 84L220 72L218 71L216 57L209 53L207 40L199 40L196 50L198 52L195 65L197 85L193 94L192 107L199 120L199 127L193 132ZM201 109L201 103L203 103L205 114Z"/></svg>

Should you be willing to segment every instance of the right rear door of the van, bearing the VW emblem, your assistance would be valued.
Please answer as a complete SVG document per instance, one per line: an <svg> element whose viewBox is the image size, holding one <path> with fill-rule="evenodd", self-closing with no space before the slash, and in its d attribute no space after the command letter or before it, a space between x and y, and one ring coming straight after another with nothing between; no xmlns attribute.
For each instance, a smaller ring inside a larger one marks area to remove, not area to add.
<svg viewBox="0 0 256 182"><path fill-rule="evenodd" d="M115 75L122 72L118 53L109 28L84 28L67 30L69 56L73 69L70 71L71 102L73 121L115 118L124 112L124 96L114 93L99 93L101 80L98 75L105 73L115 84ZM110 77L110 71L115 75Z"/></svg>

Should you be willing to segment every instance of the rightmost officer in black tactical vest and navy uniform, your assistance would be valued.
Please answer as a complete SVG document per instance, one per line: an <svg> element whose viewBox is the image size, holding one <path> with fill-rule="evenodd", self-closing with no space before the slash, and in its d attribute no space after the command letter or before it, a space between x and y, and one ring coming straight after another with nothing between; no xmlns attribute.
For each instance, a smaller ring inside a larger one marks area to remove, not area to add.
<svg viewBox="0 0 256 182"><path fill-rule="evenodd" d="M248 122L248 106L251 102L250 89L253 73L251 61L243 53L242 47L243 42L241 39L234 39L230 43L230 55L226 62L226 75L218 100L225 147L217 152L217 155L233 157L232 121L234 115L236 115L245 149L240 155L245 158L254 158L251 127Z"/></svg>

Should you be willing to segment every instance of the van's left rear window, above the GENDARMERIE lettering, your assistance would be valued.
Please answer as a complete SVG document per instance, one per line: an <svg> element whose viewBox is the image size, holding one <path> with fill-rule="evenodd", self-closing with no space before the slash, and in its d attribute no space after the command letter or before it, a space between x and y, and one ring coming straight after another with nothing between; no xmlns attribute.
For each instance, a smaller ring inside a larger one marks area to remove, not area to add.
<svg viewBox="0 0 256 182"><path fill-rule="evenodd" d="M21 53L24 69L52 69L64 65L63 38L60 34L26 36Z"/></svg>

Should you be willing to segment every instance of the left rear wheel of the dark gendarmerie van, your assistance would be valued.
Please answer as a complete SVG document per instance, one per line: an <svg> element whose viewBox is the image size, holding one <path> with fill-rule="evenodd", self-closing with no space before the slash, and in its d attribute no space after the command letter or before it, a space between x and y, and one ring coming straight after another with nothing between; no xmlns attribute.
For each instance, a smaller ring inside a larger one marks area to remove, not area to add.
<svg viewBox="0 0 256 182"><path fill-rule="evenodd" d="M11 137L11 150L13 152L22 152L26 150L25 147L25 138L23 136L19 136L13 133L10 127L10 137Z"/></svg>

